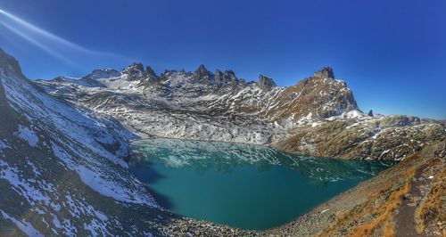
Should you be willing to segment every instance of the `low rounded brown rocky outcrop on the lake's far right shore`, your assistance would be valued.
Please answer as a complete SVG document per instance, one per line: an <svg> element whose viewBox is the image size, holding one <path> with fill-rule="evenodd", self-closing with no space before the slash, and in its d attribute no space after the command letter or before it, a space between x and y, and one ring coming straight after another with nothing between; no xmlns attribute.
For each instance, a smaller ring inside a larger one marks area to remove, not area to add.
<svg viewBox="0 0 446 237"><path fill-rule="evenodd" d="M446 137L442 123L380 127L384 118L336 119L299 127L277 148L293 153L343 159L401 160Z"/></svg>

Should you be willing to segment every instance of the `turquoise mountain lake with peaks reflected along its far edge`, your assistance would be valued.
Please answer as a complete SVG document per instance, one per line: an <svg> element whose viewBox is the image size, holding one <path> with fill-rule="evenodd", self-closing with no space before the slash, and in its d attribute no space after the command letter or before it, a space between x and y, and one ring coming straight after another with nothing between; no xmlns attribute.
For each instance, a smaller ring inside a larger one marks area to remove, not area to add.
<svg viewBox="0 0 446 237"><path fill-rule="evenodd" d="M154 139L132 146L130 170L161 206L251 230L285 224L388 167L237 143Z"/></svg>

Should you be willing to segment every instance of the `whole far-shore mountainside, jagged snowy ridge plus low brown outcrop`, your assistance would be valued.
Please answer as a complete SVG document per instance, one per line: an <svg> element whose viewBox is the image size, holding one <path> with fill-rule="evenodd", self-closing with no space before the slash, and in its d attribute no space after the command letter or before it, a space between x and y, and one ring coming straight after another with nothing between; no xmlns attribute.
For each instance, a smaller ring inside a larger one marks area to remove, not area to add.
<svg viewBox="0 0 446 237"><path fill-rule="evenodd" d="M49 94L109 115L141 137L268 144L283 151L343 159L404 159L445 137L440 122L374 116L359 110L351 90L323 68L294 86L133 63L96 69L83 78L38 80Z"/></svg>

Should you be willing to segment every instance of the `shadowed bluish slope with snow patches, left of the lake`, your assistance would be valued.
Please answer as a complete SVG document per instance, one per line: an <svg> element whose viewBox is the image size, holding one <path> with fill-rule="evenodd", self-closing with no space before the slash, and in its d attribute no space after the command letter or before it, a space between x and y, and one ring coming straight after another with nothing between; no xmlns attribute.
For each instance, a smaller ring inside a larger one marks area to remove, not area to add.
<svg viewBox="0 0 446 237"><path fill-rule="evenodd" d="M0 235L165 235L193 222L128 172L135 137L45 94L0 50Z"/></svg>

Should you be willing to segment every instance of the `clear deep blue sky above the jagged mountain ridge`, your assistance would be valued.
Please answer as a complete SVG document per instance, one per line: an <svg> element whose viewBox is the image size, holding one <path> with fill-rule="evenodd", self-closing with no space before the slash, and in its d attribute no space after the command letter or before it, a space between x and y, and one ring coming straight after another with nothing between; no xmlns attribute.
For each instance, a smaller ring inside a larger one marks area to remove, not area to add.
<svg viewBox="0 0 446 237"><path fill-rule="evenodd" d="M29 78L142 61L290 86L331 65L361 110L446 119L444 0L0 0L0 9L69 41L0 14L0 47Z"/></svg>

